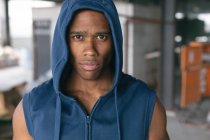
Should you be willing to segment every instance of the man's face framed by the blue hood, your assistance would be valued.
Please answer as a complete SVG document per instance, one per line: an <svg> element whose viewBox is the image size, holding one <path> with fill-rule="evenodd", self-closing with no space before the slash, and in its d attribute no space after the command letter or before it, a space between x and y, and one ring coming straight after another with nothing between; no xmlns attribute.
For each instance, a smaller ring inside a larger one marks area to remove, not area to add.
<svg viewBox="0 0 210 140"><path fill-rule="evenodd" d="M102 13L79 11L68 35L73 73L85 80L97 80L111 70L112 37L108 22Z"/></svg>

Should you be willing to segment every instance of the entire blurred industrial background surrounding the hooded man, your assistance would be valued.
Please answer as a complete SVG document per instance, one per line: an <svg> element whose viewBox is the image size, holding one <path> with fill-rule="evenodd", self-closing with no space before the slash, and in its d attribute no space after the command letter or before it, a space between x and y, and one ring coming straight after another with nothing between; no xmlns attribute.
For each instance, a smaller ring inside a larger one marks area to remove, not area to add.
<svg viewBox="0 0 210 140"><path fill-rule="evenodd" d="M12 138L23 95L51 78L62 0L0 0L0 140ZM123 71L145 81L167 110L171 140L210 139L210 0L115 0Z"/></svg>

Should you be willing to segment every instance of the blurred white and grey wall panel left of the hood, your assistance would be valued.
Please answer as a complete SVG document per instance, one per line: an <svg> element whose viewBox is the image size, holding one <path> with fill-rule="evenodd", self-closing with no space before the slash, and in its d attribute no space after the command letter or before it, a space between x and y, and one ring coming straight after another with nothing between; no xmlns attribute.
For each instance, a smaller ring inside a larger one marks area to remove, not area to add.
<svg viewBox="0 0 210 140"><path fill-rule="evenodd" d="M51 69L51 44L59 10L60 7L56 6L34 8L32 11L34 79L38 79Z"/></svg>

